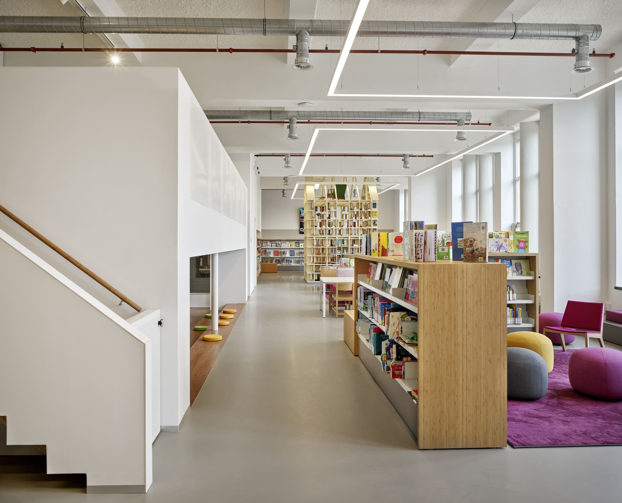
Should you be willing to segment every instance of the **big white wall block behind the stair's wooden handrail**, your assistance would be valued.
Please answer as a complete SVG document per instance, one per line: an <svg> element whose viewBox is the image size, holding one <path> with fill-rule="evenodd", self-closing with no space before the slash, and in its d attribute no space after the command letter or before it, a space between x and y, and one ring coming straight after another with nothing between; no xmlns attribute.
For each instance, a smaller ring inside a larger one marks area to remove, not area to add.
<svg viewBox="0 0 622 503"><path fill-rule="evenodd" d="M0 73L0 201L142 307L162 310L162 425L175 429L190 403L188 258L246 248L246 225L190 192L220 166L227 175L213 183L239 220L246 193L227 184L241 179L175 68ZM122 317L135 314L4 217L0 228Z"/></svg>

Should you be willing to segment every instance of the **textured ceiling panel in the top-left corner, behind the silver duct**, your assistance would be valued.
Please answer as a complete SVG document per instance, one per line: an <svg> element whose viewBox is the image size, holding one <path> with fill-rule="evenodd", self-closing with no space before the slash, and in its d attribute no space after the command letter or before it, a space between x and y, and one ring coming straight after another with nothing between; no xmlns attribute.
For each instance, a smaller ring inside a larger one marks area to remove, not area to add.
<svg viewBox="0 0 622 503"><path fill-rule="evenodd" d="M58 0L0 0L1 16L78 16L78 12ZM82 47L80 34L2 33L4 47ZM85 47L106 47L97 35L85 35Z"/></svg>

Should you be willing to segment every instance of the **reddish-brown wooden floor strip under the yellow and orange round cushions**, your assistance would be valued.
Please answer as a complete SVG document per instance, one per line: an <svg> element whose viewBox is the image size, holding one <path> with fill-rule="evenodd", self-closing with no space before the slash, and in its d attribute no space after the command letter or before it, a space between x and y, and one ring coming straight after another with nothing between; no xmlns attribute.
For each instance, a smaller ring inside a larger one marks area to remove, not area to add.
<svg viewBox="0 0 622 503"><path fill-rule="evenodd" d="M233 330L239 315L244 309L244 304L227 304L225 309L237 309L238 312L236 312L233 319L229 320L229 325L218 329L218 334L223 336L223 340L208 342L203 340L203 335L205 333L213 333L211 329L205 330L205 332L198 332L193 330L193 327L197 325L207 325L209 327L211 319L206 318L205 314L210 312L210 310L203 307L190 308L190 407L197 399L205 379L207 379L211 368L216 363L216 358L218 358L231 330Z"/></svg>

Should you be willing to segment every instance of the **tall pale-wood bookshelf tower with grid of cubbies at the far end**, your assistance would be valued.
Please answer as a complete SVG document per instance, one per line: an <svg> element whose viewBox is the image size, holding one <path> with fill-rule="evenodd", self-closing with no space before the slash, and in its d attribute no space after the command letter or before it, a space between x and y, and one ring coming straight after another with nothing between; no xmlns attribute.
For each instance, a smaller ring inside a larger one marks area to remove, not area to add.
<svg viewBox="0 0 622 503"><path fill-rule="evenodd" d="M360 253L361 237L378 230L378 191L373 178L364 178L362 185L356 179L306 182L305 281L312 283L319 281L320 268Z"/></svg>

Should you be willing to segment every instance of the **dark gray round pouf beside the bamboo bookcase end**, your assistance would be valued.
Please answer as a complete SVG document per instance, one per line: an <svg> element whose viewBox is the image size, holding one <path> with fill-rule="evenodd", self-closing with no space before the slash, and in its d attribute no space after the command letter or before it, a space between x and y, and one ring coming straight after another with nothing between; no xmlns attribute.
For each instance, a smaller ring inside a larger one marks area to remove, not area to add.
<svg viewBox="0 0 622 503"><path fill-rule="evenodd" d="M508 398L537 400L549 391L549 372L542 356L526 348L508 348Z"/></svg>

